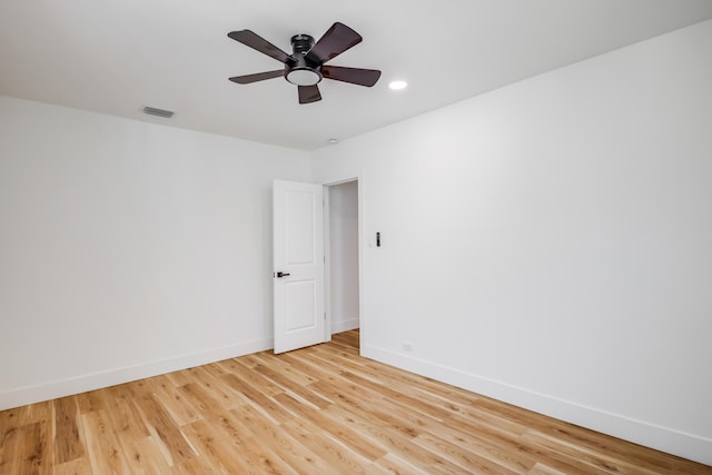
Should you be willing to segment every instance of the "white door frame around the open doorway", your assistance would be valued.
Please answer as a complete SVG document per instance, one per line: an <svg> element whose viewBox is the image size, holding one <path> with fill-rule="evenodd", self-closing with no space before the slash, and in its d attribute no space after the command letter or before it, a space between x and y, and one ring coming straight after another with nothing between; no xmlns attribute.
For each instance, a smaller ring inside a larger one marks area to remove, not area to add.
<svg viewBox="0 0 712 475"><path fill-rule="evenodd" d="M365 311L364 311L364 250L365 250L365 221L364 221L364 176L363 174L349 176L343 179L327 181L324 186L324 308L326 311L326 333L327 340L332 340L332 237L330 237L330 216L329 216L329 187L347 184L350 181L356 181L357 190L356 190L356 202L358 206L358 326L359 326L359 335L360 340L364 340L365 334ZM359 353L360 353L359 345Z"/></svg>

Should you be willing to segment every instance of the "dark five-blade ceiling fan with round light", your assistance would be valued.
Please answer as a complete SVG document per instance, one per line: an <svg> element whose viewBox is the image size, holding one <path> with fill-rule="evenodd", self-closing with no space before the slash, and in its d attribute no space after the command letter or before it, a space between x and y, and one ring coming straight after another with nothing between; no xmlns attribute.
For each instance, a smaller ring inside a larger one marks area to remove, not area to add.
<svg viewBox="0 0 712 475"><path fill-rule="evenodd" d="M299 103L322 100L317 85L323 78L366 87L374 86L380 78L380 71L375 69L324 65L363 41L360 34L344 23L334 23L316 43L314 38L308 34L295 34L291 37L294 51L291 55L287 55L250 30L233 31L227 36L285 65L283 69L275 71L235 76L230 78L230 81L238 85L249 85L283 76L287 81L297 86Z"/></svg>

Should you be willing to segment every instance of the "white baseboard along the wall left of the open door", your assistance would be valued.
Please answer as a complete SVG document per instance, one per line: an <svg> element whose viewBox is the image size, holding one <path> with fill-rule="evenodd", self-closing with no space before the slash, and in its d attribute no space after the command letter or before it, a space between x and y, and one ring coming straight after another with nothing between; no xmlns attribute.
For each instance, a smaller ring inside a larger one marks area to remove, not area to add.
<svg viewBox="0 0 712 475"><path fill-rule="evenodd" d="M179 369L220 362L249 355L273 348L273 339L265 338L238 345L214 348L206 352L192 353L175 358L159 359L141 365L126 366L90 375L77 376L69 379L56 380L37 386L26 386L0 393L0 410L42 400L56 399L72 394L86 393L102 387L142 379L150 376L164 375Z"/></svg>

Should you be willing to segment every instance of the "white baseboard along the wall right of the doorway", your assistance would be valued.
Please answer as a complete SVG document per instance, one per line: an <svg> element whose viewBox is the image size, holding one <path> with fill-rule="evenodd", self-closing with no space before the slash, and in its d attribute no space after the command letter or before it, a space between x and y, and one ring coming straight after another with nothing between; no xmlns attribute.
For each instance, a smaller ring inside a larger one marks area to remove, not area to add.
<svg viewBox="0 0 712 475"><path fill-rule="evenodd" d="M690 461L712 465L712 439L705 437L535 393L373 345L362 345L360 353L367 358L452 384L473 393Z"/></svg>

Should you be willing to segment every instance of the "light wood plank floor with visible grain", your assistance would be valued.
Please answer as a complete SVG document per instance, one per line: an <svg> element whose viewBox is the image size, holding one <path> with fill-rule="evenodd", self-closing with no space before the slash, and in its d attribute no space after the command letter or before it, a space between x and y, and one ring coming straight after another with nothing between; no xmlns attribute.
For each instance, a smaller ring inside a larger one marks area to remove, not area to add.
<svg viewBox="0 0 712 475"><path fill-rule="evenodd" d="M0 412L0 473L712 474L357 348L347 331Z"/></svg>

